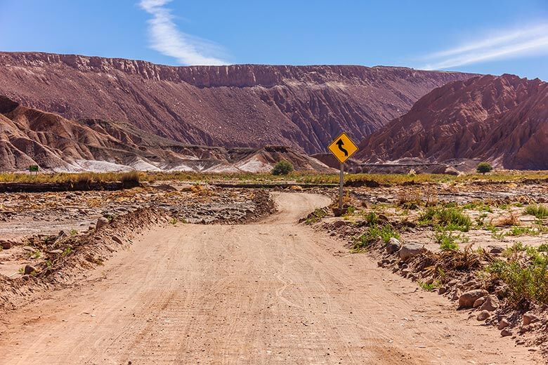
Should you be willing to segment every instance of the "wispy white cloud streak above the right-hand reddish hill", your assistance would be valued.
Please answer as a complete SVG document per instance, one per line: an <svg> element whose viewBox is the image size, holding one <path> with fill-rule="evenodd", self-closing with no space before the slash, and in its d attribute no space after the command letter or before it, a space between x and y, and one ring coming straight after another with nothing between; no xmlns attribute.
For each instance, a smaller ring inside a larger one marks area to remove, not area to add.
<svg viewBox="0 0 548 365"><path fill-rule="evenodd" d="M548 53L548 23L499 30L453 48L422 58L425 69L448 69L462 65Z"/></svg>

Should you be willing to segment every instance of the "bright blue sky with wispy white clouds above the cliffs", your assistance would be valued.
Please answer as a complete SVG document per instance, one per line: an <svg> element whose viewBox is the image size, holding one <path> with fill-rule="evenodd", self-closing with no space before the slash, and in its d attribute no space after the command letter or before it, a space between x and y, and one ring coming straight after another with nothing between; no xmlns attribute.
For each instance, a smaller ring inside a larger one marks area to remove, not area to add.
<svg viewBox="0 0 548 365"><path fill-rule="evenodd" d="M548 0L0 0L0 51L391 65L548 80Z"/></svg>

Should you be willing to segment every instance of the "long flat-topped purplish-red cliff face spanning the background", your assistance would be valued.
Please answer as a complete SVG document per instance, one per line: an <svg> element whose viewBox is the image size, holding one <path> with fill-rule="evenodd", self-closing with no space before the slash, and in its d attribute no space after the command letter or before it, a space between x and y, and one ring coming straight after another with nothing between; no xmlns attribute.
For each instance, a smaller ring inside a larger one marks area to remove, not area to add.
<svg viewBox="0 0 548 365"><path fill-rule="evenodd" d="M67 119L106 119L193 145L323 152L360 140L433 88L474 75L398 67L170 67L48 53L0 53L0 94Z"/></svg>

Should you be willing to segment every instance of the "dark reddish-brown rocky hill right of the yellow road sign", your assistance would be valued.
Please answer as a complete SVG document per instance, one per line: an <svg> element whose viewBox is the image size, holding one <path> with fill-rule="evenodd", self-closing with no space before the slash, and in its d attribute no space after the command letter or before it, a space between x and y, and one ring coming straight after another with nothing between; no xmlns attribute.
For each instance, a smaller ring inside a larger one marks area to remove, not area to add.
<svg viewBox="0 0 548 365"><path fill-rule="evenodd" d="M410 112L362 143L358 158L395 161L478 159L516 169L548 169L548 83L474 77L424 95Z"/></svg>

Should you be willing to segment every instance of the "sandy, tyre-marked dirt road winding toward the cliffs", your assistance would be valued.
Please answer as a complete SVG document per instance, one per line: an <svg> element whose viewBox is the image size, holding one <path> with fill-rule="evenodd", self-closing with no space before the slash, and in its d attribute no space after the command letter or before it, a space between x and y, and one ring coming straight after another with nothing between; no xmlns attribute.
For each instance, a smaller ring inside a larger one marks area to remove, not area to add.
<svg viewBox="0 0 548 365"><path fill-rule="evenodd" d="M296 225L327 202L286 193L263 223L146 232L95 279L4 316L0 364L537 364Z"/></svg>

